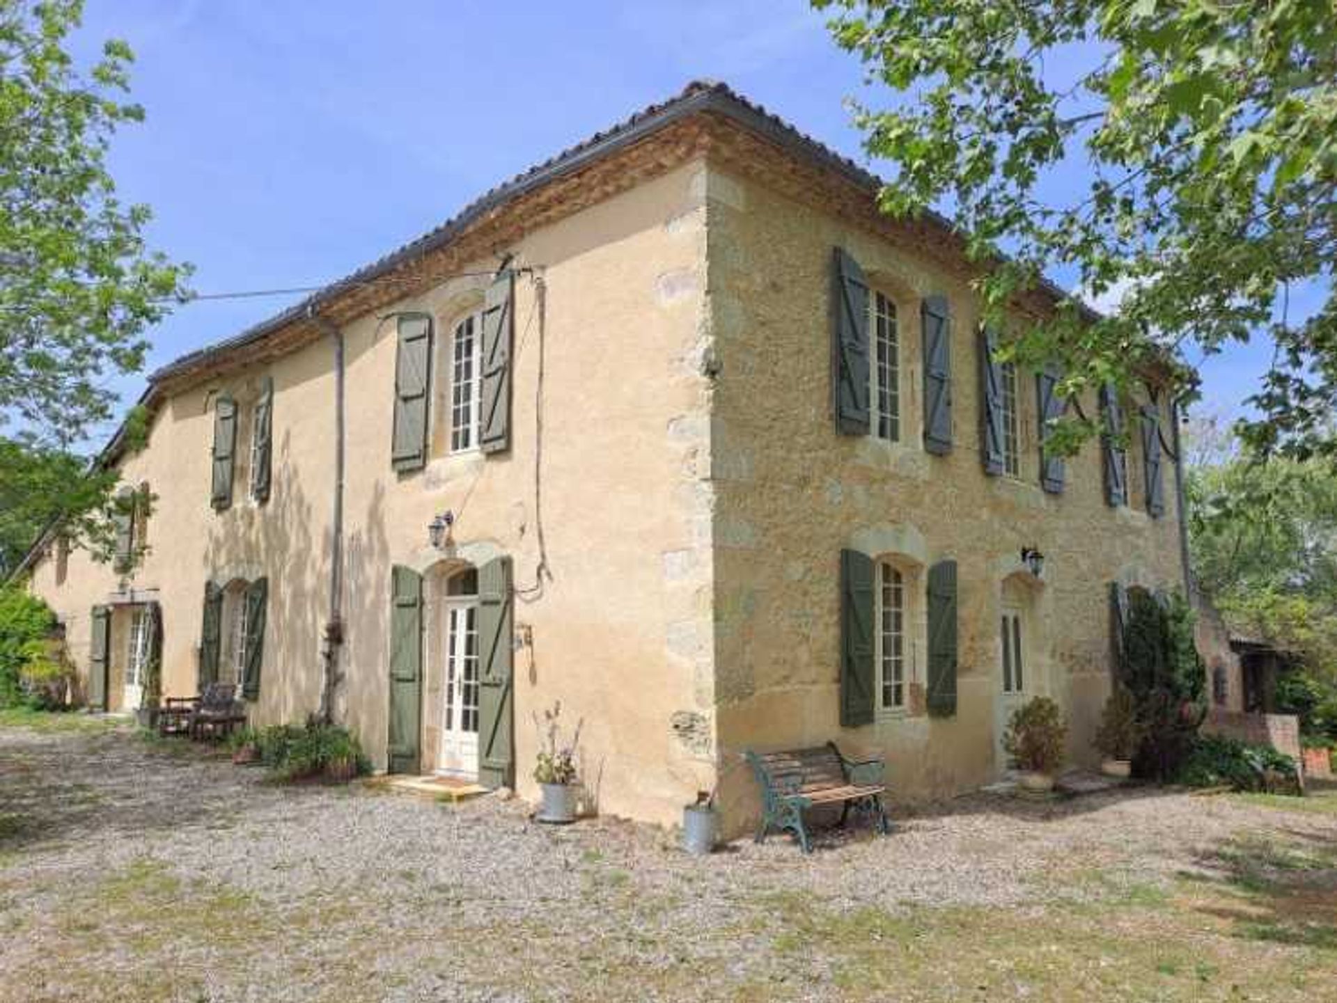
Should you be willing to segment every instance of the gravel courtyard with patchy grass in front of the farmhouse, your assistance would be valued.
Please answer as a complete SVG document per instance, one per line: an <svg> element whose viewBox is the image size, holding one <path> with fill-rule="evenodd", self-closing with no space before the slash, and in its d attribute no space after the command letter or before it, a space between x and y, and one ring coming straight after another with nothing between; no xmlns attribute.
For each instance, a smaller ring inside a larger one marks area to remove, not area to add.
<svg viewBox="0 0 1337 1003"><path fill-rule="evenodd" d="M1337 799L981 795L694 859L71 724L0 725L3 1000L1337 998Z"/></svg>

